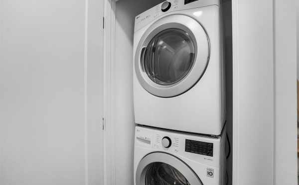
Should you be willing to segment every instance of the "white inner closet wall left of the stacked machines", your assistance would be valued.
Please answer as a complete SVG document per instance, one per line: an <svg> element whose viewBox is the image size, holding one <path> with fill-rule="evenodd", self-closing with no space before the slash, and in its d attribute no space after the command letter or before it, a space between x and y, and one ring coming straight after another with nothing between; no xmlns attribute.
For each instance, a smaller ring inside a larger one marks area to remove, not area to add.
<svg viewBox="0 0 299 185"><path fill-rule="evenodd" d="M133 34L135 16L162 0L116 2L116 185L133 185Z"/></svg>

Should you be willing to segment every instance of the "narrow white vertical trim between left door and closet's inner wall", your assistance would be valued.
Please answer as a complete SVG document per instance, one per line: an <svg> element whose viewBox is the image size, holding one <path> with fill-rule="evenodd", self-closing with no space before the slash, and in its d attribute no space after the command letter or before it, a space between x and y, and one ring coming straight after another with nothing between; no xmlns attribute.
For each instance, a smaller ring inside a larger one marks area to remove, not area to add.
<svg viewBox="0 0 299 185"><path fill-rule="evenodd" d="M104 184L115 185L115 0L104 2Z"/></svg>

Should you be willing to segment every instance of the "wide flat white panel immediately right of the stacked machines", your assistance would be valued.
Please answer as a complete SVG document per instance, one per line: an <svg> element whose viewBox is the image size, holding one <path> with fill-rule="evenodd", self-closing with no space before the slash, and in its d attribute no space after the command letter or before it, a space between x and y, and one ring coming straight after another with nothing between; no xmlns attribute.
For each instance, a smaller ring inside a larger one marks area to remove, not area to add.
<svg viewBox="0 0 299 185"><path fill-rule="evenodd" d="M233 185L273 185L272 7L272 0L232 0Z"/></svg>

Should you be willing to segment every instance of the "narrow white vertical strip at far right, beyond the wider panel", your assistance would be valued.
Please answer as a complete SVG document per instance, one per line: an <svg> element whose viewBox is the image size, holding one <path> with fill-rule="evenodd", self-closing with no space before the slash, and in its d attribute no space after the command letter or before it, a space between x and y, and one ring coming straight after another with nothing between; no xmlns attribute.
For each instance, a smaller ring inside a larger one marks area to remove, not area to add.
<svg viewBox="0 0 299 185"><path fill-rule="evenodd" d="M298 185L296 1L276 0L274 6L274 185Z"/></svg>

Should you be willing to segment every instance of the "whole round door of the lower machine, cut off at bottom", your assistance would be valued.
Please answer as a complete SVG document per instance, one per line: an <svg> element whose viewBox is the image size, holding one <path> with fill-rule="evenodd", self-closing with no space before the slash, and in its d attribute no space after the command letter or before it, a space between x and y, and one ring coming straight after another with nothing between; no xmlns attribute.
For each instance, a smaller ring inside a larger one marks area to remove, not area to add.
<svg viewBox="0 0 299 185"><path fill-rule="evenodd" d="M161 152L144 157L136 172L136 185L203 185L180 159Z"/></svg>

